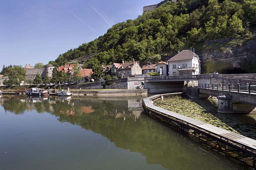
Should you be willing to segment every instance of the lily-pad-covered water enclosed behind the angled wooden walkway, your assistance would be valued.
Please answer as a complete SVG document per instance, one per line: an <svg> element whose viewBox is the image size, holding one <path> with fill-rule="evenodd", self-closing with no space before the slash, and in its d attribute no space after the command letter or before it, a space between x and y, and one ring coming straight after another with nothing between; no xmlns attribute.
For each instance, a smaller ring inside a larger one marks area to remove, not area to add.
<svg viewBox="0 0 256 170"><path fill-rule="evenodd" d="M217 113L217 99L168 97L154 105L256 139L256 115Z"/></svg>

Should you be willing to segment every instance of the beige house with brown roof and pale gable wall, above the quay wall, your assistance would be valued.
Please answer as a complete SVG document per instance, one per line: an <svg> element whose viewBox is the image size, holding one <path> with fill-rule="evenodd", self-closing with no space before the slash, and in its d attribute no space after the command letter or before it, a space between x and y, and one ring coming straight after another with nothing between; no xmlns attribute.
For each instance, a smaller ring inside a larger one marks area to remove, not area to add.
<svg viewBox="0 0 256 170"><path fill-rule="evenodd" d="M118 78L126 78L131 75L141 75L142 69L139 65L139 62L123 62L121 67L117 69L117 77Z"/></svg>

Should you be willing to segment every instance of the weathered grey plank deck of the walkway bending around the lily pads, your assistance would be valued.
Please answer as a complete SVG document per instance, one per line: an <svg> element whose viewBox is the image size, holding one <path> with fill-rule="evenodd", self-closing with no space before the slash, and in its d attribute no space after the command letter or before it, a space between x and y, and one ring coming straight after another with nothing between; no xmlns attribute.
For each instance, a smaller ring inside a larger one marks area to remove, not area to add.
<svg viewBox="0 0 256 170"><path fill-rule="evenodd" d="M143 99L143 107L147 113L151 112L154 114L161 114L162 116L170 119L172 122L178 124L180 128L185 127L187 129L193 129L197 132L201 132L207 137L214 138L240 152L243 152L244 154L248 154L256 158L256 140L154 106L152 99L158 98L159 96L161 95L154 95Z"/></svg>

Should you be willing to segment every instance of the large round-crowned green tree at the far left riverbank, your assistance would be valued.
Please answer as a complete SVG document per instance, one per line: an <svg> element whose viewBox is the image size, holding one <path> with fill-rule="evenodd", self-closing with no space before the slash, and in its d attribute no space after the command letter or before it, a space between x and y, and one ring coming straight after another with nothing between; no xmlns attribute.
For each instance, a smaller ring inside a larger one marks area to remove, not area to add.
<svg viewBox="0 0 256 170"><path fill-rule="evenodd" d="M18 85L21 83L21 81L26 80L26 70L24 70L21 65L10 65L5 70L4 76L9 77L5 82L5 85Z"/></svg>

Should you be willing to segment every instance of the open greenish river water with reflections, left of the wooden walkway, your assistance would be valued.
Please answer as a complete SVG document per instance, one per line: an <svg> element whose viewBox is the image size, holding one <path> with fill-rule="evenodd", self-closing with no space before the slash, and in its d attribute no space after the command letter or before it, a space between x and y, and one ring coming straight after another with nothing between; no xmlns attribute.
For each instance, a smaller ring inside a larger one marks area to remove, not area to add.
<svg viewBox="0 0 256 170"><path fill-rule="evenodd" d="M0 169L245 169L146 116L145 97L1 96Z"/></svg>

